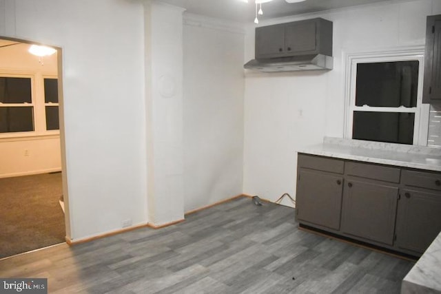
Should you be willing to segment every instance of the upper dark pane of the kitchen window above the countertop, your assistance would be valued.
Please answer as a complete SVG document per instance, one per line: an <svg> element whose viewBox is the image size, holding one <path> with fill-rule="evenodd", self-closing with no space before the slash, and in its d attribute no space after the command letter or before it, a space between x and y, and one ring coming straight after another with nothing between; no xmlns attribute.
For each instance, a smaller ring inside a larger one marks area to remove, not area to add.
<svg viewBox="0 0 441 294"><path fill-rule="evenodd" d="M356 106L416 107L418 61L358 63Z"/></svg>

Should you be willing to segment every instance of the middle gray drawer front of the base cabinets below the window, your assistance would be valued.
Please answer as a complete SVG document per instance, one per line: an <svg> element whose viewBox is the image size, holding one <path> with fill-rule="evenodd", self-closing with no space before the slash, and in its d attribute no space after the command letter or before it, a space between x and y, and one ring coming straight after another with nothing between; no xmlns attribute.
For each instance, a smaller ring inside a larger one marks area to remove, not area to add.
<svg viewBox="0 0 441 294"><path fill-rule="evenodd" d="M359 176L372 180L384 182L400 182L400 169L396 167L384 167L382 165L371 165L369 163L346 162L346 174L348 176Z"/></svg>

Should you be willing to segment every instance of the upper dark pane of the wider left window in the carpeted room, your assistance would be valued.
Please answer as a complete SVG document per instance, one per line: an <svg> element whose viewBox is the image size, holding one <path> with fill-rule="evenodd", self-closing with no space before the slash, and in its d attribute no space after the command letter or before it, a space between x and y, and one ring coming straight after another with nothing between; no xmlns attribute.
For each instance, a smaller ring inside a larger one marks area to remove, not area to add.
<svg viewBox="0 0 441 294"><path fill-rule="evenodd" d="M30 78L0 77L1 103L31 103Z"/></svg>

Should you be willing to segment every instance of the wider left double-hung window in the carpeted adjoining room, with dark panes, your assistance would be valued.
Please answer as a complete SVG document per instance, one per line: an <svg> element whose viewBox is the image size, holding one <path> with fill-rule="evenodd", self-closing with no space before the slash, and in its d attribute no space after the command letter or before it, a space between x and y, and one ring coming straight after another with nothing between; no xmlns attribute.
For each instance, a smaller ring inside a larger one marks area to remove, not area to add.
<svg viewBox="0 0 441 294"><path fill-rule="evenodd" d="M0 133L34 131L31 78L0 76Z"/></svg>

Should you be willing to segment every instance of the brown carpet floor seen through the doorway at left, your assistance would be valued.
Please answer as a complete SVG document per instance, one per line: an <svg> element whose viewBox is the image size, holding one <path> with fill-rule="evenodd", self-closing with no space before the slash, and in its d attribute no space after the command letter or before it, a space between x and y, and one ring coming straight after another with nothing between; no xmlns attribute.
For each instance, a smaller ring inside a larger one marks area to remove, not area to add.
<svg viewBox="0 0 441 294"><path fill-rule="evenodd" d="M61 173L0 178L0 258L65 242Z"/></svg>

